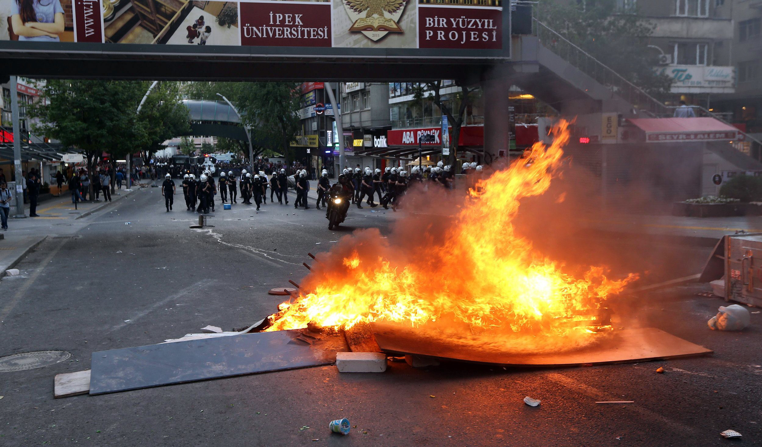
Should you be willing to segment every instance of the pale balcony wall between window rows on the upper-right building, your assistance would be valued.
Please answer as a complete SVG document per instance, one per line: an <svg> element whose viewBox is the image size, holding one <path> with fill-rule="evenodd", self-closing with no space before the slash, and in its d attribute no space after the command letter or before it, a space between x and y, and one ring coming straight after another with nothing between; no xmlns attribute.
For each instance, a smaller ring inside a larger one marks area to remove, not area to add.
<svg viewBox="0 0 762 447"><path fill-rule="evenodd" d="M648 17L655 24L651 37L732 40L733 22L710 17Z"/></svg>

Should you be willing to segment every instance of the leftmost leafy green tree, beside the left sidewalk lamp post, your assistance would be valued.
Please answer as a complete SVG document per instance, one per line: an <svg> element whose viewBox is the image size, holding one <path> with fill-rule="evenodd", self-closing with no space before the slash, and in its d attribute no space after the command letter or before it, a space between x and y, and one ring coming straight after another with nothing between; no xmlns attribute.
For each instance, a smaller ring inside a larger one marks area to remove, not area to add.
<svg viewBox="0 0 762 447"><path fill-rule="evenodd" d="M82 151L92 178L104 151L145 138L136 116L141 89L140 81L48 80L28 113L40 119L36 132Z"/></svg>

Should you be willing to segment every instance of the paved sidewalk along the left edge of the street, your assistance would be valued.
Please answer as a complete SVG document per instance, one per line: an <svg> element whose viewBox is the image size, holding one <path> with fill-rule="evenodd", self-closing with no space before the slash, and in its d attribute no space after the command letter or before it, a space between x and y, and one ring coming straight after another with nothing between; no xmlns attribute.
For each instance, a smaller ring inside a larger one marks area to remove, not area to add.
<svg viewBox="0 0 762 447"><path fill-rule="evenodd" d="M139 189L139 187L138 187ZM135 192L136 189L133 189ZM8 231L2 231L3 239L0 239L0 277L5 276L5 271L18 264L29 252L34 250L49 236L66 236L75 233L81 225L77 220L81 217L93 214L101 208L107 207L126 196L130 192L124 189L111 195L110 202L84 201L79 202L75 209L72 203L72 195L65 192L60 197L54 197L37 205L37 214L40 217L29 217L29 204L24 205L24 214L27 217L8 217Z"/></svg>

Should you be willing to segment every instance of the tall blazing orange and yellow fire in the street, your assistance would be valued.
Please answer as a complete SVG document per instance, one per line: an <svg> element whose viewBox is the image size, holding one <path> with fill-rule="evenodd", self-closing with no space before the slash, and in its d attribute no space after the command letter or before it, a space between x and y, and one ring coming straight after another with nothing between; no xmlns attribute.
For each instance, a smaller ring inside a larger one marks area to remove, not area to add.
<svg viewBox="0 0 762 447"><path fill-rule="evenodd" d="M420 228L402 242L378 230L342 239L305 278L309 293L283 303L267 330L386 321L510 333L530 344L542 335L543 347L555 348L588 343L610 328L599 311L636 275L613 280L591 267L574 277L514 233L520 199L546 192L561 166L568 123L554 130L551 145L536 143L523 159L479 179L443 229Z"/></svg>

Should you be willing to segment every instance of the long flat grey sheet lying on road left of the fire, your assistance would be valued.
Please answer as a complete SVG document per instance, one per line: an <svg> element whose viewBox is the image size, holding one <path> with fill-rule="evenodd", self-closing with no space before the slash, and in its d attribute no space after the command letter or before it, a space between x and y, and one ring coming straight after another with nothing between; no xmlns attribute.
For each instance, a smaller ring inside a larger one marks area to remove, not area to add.
<svg viewBox="0 0 762 447"><path fill-rule="evenodd" d="M338 335L260 332L92 353L90 394L327 365L346 351Z"/></svg>

